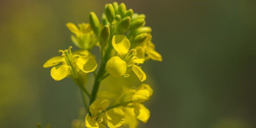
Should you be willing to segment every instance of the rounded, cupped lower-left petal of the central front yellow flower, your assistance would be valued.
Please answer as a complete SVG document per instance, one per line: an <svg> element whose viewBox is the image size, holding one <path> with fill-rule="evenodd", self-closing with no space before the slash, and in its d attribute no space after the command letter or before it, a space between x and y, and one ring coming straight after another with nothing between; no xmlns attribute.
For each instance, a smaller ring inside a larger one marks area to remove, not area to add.
<svg viewBox="0 0 256 128"><path fill-rule="evenodd" d="M106 69L114 77L123 76L126 72L126 62L120 59L118 56L112 57L106 63Z"/></svg>

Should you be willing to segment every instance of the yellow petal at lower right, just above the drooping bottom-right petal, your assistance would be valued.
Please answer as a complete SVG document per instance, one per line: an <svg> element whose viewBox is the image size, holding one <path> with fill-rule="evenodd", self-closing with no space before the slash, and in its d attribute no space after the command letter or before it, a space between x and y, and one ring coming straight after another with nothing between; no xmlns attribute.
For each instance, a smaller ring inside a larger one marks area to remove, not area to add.
<svg viewBox="0 0 256 128"><path fill-rule="evenodd" d="M137 90L132 96L132 102L142 103L150 97L150 92L146 89Z"/></svg>

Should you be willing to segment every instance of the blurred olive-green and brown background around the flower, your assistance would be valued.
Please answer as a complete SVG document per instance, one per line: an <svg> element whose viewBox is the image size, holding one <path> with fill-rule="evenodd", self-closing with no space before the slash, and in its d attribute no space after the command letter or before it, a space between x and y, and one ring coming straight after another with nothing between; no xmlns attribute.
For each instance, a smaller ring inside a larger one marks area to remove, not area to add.
<svg viewBox="0 0 256 128"><path fill-rule="evenodd" d="M0 1L1 128L71 128L83 106L79 89L71 79L54 81L42 65L73 45L67 22L88 23L90 11L101 17L110 2ZM163 57L143 66L154 95L140 128L256 127L255 0L117 2L146 15Z"/></svg>

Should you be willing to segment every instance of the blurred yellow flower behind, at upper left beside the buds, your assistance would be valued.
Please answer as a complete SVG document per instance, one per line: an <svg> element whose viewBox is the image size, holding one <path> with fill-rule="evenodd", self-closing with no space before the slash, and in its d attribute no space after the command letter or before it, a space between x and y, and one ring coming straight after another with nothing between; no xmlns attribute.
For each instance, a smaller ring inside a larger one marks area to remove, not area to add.
<svg viewBox="0 0 256 128"><path fill-rule="evenodd" d="M97 42L94 32L91 30L90 24L78 24L77 28L73 23L67 23L66 26L75 35L71 35L72 42L79 48L91 49Z"/></svg>

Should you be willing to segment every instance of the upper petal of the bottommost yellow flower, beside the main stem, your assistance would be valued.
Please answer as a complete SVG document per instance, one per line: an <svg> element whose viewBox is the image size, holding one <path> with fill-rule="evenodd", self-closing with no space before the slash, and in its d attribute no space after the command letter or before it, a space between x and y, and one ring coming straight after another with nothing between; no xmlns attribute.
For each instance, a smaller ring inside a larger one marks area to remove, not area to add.
<svg viewBox="0 0 256 128"><path fill-rule="evenodd" d="M91 116L94 117L99 111L103 111L109 105L109 100L105 98L100 98L95 100L90 105Z"/></svg>

